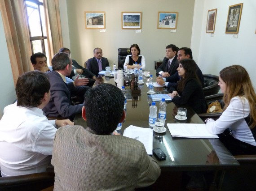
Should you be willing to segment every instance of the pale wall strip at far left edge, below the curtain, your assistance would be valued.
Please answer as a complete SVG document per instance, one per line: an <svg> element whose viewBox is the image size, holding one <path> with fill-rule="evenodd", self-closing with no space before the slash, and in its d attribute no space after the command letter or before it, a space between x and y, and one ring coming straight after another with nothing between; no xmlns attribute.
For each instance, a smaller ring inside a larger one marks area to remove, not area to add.
<svg viewBox="0 0 256 191"><path fill-rule="evenodd" d="M13 74L8 55L8 49L4 34L2 15L0 13L0 119L3 115L4 107L13 103L16 99Z"/></svg>

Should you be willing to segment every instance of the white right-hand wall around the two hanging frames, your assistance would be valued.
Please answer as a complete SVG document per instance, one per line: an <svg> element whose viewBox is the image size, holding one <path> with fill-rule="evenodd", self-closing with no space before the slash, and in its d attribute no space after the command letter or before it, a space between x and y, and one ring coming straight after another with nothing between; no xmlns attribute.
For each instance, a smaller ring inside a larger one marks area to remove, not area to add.
<svg viewBox="0 0 256 191"><path fill-rule="evenodd" d="M230 5L243 3L238 38L225 34ZM214 36L205 33L208 10L217 8ZM203 13L203 14L202 14ZM218 75L239 64L247 69L256 88L256 0L195 0L191 48L203 73ZM243 77L243 76L241 76Z"/></svg>

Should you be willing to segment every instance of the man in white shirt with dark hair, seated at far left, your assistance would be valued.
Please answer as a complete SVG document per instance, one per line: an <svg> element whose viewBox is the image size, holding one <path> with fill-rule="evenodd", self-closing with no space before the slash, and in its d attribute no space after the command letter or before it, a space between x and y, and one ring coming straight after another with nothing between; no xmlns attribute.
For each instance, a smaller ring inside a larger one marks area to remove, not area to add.
<svg viewBox="0 0 256 191"><path fill-rule="evenodd" d="M0 169L2 176L46 172L57 129L74 125L69 119L48 120L42 108L50 99L46 73L31 71L19 76L17 102L4 108L0 120Z"/></svg>

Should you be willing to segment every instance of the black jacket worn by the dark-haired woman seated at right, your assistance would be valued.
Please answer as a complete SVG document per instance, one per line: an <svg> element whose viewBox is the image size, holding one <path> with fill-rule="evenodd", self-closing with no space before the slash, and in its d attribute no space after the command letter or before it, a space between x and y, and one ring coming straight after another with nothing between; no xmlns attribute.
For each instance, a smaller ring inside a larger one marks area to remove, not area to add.
<svg viewBox="0 0 256 191"><path fill-rule="evenodd" d="M177 91L177 85L172 86L169 91ZM206 102L203 94L202 85L199 82L191 78L189 79L182 92L177 91L180 96L175 96L172 98L172 102L177 103L179 105L189 105L192 109L197 113L203 113L206 111Z"/></svg>

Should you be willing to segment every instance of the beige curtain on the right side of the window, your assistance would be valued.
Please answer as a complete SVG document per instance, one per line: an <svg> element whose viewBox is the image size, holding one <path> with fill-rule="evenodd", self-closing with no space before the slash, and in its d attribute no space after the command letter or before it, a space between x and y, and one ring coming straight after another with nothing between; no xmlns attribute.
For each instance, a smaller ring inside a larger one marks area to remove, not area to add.
<svg viewBox="0 0 256 191"><path fill-rule="evenodd" d="M62 44L62 29L58 0L44 0L45 21L47 28L47 42L49 47L49 60L52 60Z"/></svg>

